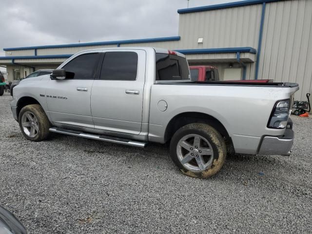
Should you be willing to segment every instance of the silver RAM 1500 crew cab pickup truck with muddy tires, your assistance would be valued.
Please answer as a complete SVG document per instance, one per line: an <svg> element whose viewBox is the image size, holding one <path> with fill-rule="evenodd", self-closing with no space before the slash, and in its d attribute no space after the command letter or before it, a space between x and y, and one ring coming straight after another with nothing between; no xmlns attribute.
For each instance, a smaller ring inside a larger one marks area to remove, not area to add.
<svg viewBox="0 0 312 234"><path fill-rule="evenodd" d="M298 89L191 81L180 53L118 47L79 52L51 75L20 81L11 108L29 140L55 132L137 147L170 142L180 170L206 178L228 153L289 156Z"/></svg>

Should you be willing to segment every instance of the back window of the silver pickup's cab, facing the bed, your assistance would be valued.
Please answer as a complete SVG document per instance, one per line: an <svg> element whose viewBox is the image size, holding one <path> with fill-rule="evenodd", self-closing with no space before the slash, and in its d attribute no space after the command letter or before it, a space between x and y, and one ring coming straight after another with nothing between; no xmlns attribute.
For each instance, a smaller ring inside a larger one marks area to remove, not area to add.
<svg viewBox="0 0 312 234"><path fill-rule="evenodd" d="M177 55L156 53L156 80L189 78L189 66L185 58Z"/></svg>

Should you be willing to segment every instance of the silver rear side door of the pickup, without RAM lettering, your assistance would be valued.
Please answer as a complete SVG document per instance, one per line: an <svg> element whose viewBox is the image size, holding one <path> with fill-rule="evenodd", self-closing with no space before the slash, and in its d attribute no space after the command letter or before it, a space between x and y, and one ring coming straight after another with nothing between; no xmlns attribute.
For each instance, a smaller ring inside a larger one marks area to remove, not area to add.
<svg viewBox="0 0 312 234"><path fill-rule="evenodd" d="M92 117L96 129L138 135L141 132L142 125L146 54L144 50L125 49L118 50L118 52L137 53L136 80L95 80L91 95ZM103 64L109 63L108 60L105 60L109 58L105 57L106 55L104 55ZM120 70L130 67L127 64L122 64L121 59L118 59L118 61L121 67ZM114 68L108 69L114 71ZM117 73L120 73L120 70ZM103 78L103 74L107 76L107 72L102 66L100 77ZM131 75L129 76L129 79L132 79ZM111 77L116 78L114 75ZM125 79L123 74L119 75L119 77Z"/></svg>

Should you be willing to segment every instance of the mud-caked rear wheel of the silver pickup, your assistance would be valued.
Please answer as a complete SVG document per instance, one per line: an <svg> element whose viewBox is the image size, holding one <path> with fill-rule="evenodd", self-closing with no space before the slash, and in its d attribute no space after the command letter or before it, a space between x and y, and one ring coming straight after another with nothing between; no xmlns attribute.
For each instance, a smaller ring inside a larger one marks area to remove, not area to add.
<svg viewBox="0 0 312 234"><path fill-rule="evenodd" d="M176 131L170 142L172 160L183 174L191 177L214 176L222 168L226 154L223 137L208 124L185 125Z"/></svg>

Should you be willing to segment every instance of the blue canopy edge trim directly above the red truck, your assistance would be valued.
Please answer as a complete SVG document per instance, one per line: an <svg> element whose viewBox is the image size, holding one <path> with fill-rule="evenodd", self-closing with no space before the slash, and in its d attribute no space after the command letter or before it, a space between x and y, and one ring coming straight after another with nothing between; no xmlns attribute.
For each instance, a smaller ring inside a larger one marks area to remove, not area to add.
<svg viewBox="0 0 312 234"><path fill-rule="evenodd" d="M230 47L230 48L213 48L213 49L190 49L190 50L175 50L184 55L191 54L221 54L221 53L252 53L255 54L257 51L252 47Z"/></svg>

